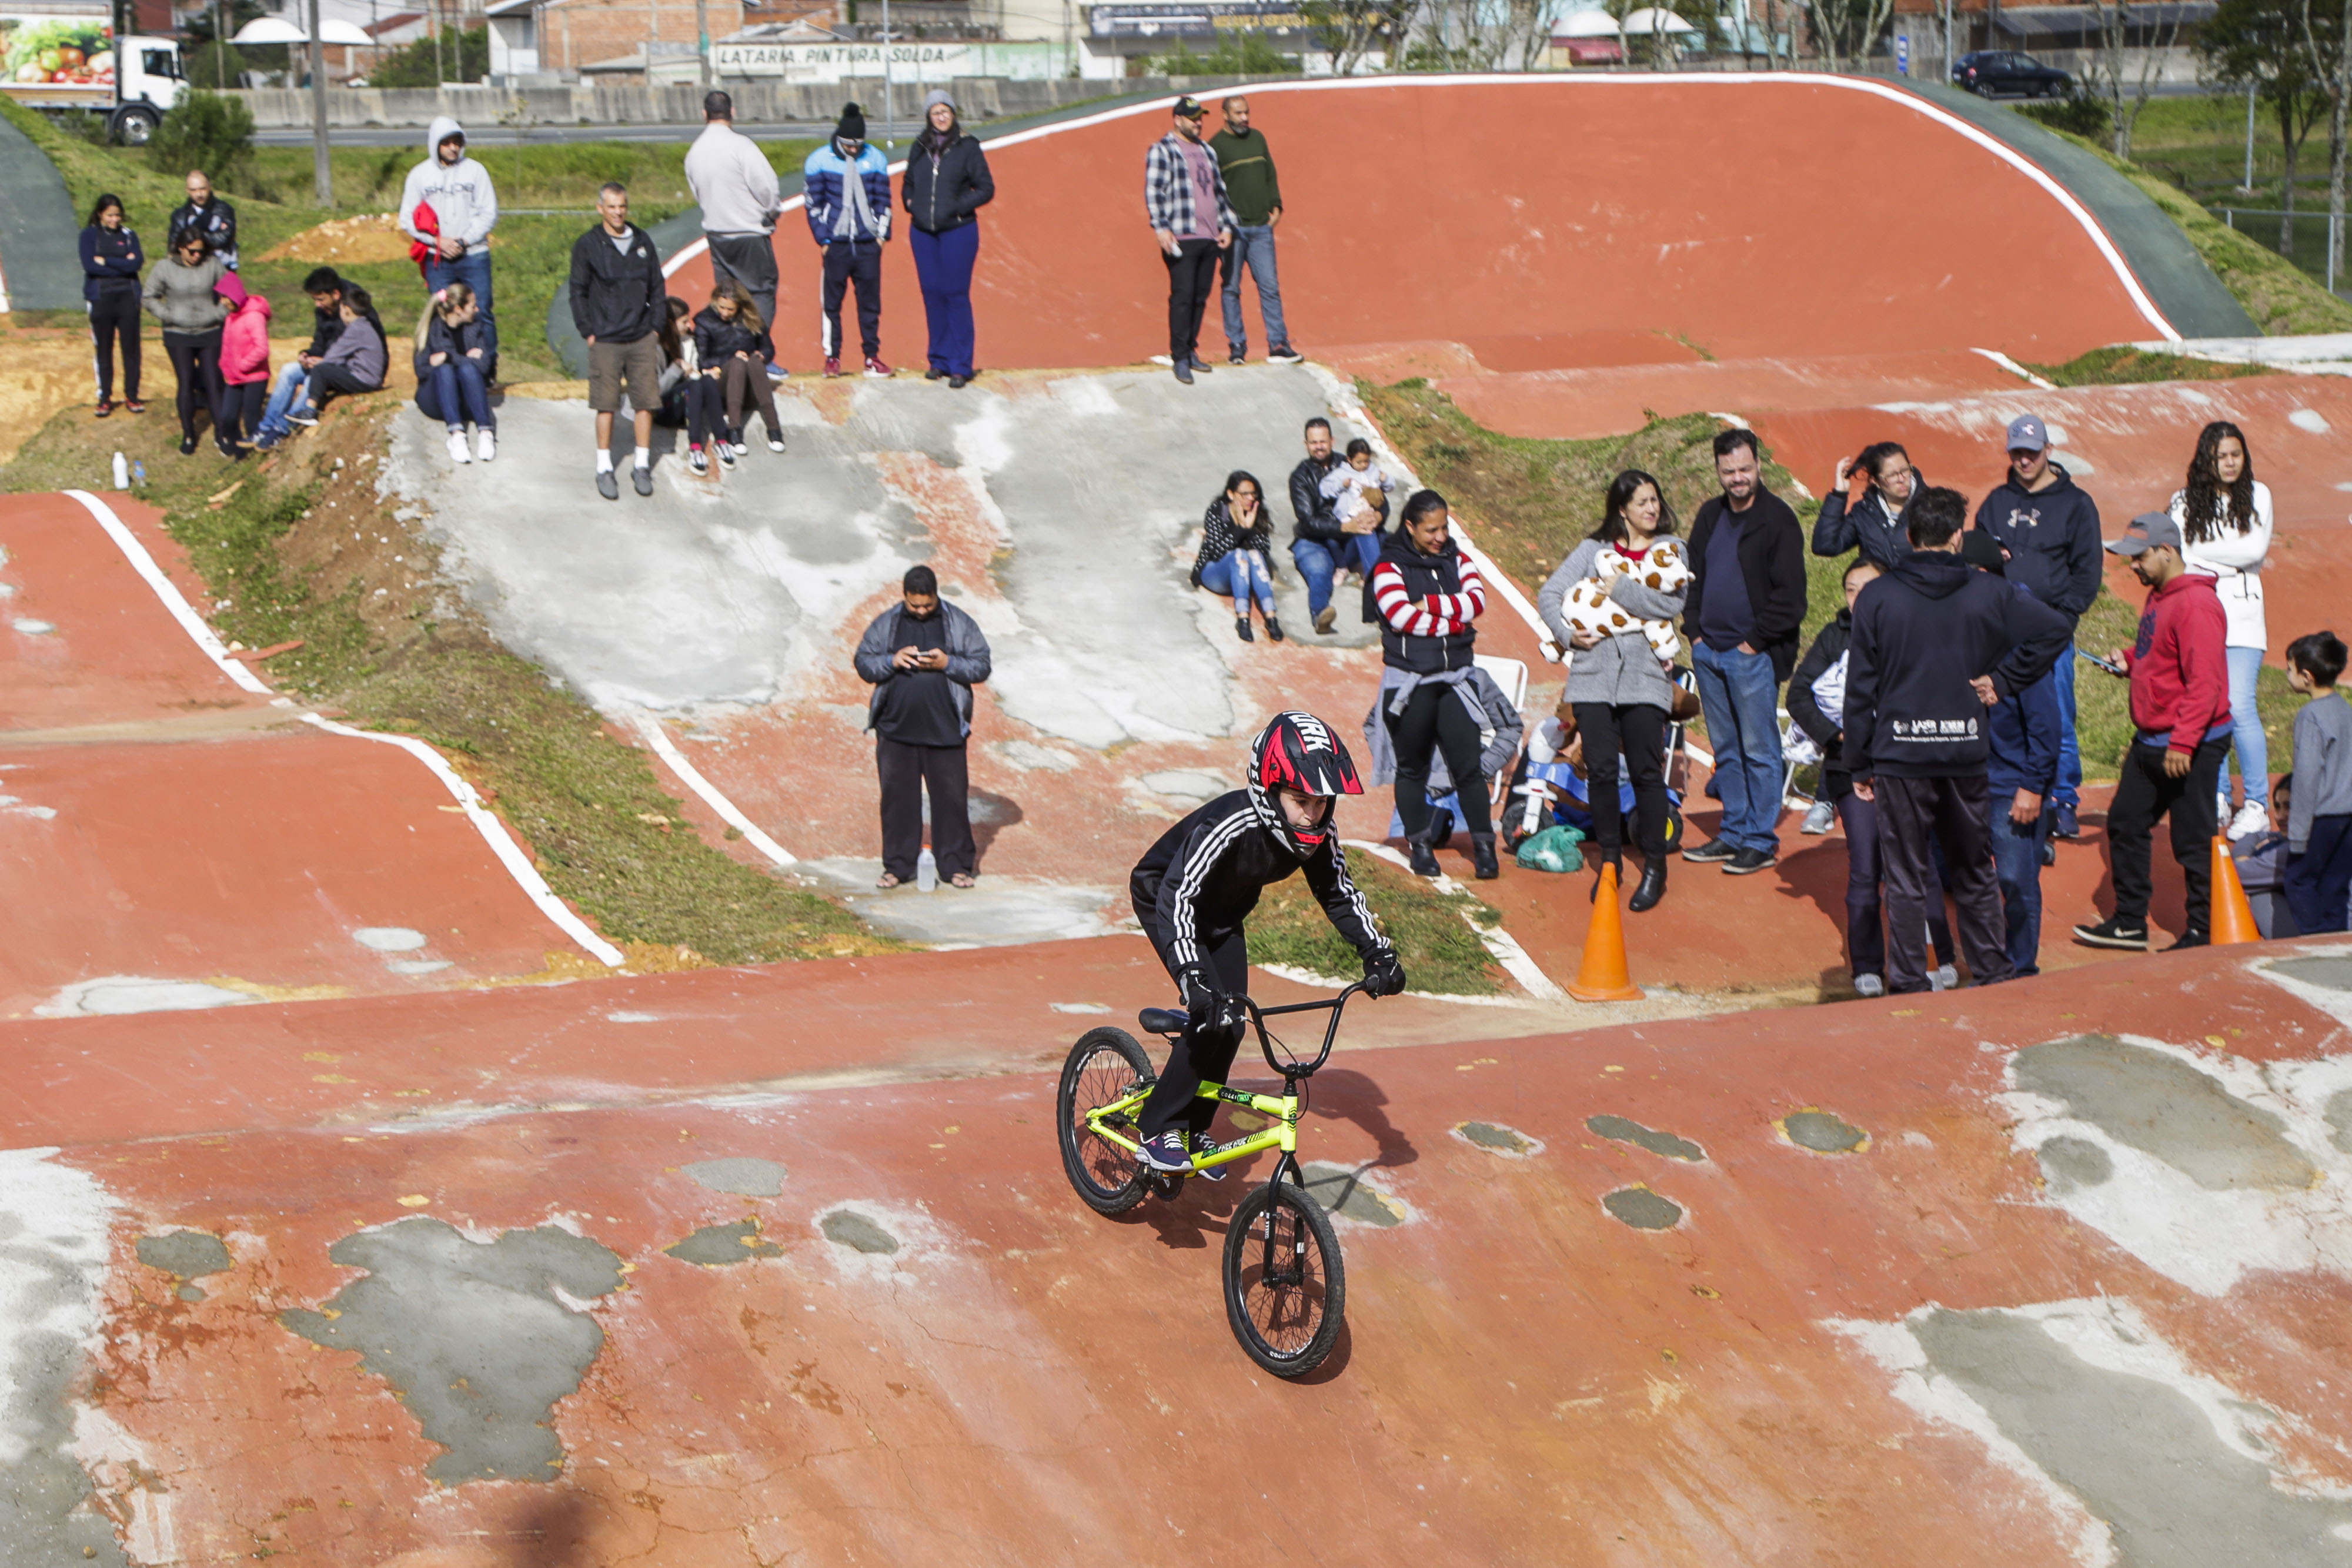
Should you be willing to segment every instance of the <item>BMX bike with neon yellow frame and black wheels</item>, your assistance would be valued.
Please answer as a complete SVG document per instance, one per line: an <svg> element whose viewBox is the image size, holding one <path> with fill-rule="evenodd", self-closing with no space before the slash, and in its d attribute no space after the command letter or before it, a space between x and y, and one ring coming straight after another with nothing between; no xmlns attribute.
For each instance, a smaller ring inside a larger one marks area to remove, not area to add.
<svg viewBox="0 0 2352 1568"><path fill-rule="evenodd" d="M1282 1074L1279 1095L1247 1093L1223 1084L1202 1084L1202 1100L1223 1100L1270 1117L1272 1124L1249 1138L1211 1145L1192 1154L1192 1168L1207 1171L1265 1150L1279 1150L1272 1175L1249 1192L1225 1229L1225 1321L1249 1359L1277 1378L1303 1378L1322 1366L1338 1342L1348 1309L1348 1269L1338 1255L1338 1234L1298 1171L1298 1117L1308 1107L1308 1079L1331 1060L1338 1039L1338 1016L1348 997L1364 990L1350 985L1329 1001L1294 1001L1289 1006L1249 1006L1249 1027L1258 1034L1265 1065ZM1265 1030L1282 1013L1331 1013L1322 1051L1301 1063L1289 1046ZM1138 1016L1145 1034L1171 1039L1183 1034L1185 1016L1176 1009L1148 1006ZM1275 1056L1282 1051L1282 1058ZM1183 1190L1183 1175L1160 1175L1143 1164L1136 1126L1143 1100L1157 1074L1136 1037L1103 1025L1087 1030L1061 1067L1056 1126L1061 1131L1061 1166L1077 1197L1096 1213L1127 1213L1145 1197L1171 1199Z"/></svg>

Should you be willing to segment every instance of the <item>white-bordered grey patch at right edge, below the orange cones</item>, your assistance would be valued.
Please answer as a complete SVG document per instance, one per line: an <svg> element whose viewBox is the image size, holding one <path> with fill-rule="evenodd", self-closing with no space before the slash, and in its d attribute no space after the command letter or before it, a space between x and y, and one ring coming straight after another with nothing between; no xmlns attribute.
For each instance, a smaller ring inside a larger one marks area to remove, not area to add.
<svg viewBox="0 0 2352 1568"><path fill-rule="evenodd" d="M2253 1272L2352 1276L2352 1056L2079 1034L2018 1051L2009 1081L2046 1199L2159 1274L2204 1295Z"/></svg>

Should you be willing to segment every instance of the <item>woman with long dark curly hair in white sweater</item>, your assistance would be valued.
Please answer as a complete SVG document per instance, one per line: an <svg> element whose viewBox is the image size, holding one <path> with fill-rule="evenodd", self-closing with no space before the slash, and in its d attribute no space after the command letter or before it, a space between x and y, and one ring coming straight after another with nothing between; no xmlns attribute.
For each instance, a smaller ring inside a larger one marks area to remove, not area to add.
<svg viewBox="0 0 2352 1568"><path fill-rule="evenodd" d="M2239 806L2230 813L2230 780L2220 780L2220 820L2230 837L2270 827L2270 738L2256 689L2270 625L2263 618L2263 557L2270 555L2270 487L2253 477L2246 433L2216 418L2197 435L2187 484L2173 491L2180 559L2213 578L2230 621L2230 748L2237 752ZM2300 766L2300 755L2298 755Z"/></svg>

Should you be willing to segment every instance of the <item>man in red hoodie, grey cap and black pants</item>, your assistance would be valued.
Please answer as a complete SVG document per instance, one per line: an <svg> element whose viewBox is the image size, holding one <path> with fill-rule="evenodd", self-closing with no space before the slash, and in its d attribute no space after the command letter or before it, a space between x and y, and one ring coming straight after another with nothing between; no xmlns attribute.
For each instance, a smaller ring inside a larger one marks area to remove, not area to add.
<svg viewBox="0 0 2352 1568"><path fill-rule="evenodd" d="M2114 914L2074 926L2091 947L2147 950L2147 877L2157 818L2173 818L2173 858L2187 879L2187 931L2166 947L2204 947L2213 917L2213 780L2230 750L2230 623L2213 578L2180 564L2180 524L2143 512L2107 543L2147 583L2140 637L2107 656L2131 677L2131 748L2107 806Z"/></svg>

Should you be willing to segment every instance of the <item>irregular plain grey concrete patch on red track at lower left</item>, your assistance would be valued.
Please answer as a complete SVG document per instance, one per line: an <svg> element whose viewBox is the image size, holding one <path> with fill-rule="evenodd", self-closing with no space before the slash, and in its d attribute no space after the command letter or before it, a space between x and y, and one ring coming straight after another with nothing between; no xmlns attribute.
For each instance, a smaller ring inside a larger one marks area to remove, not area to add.
<svg viewBox="0 0 2352 1568"><path fill-rule="evenodd" d="M612 1251L555 1225L473 1241L442 1220L409 1218L343 1237L327 1258L367 1274L318 1312L296 1307L278 1321L327 1349L360 1352L360 1366L445 1448L428 1479L562 1472L553 1410L604 1347L586 1305L621 1288Z"/></svg>

